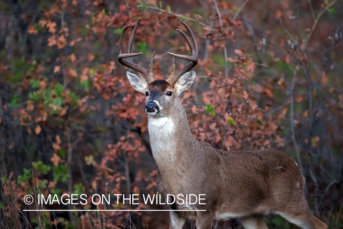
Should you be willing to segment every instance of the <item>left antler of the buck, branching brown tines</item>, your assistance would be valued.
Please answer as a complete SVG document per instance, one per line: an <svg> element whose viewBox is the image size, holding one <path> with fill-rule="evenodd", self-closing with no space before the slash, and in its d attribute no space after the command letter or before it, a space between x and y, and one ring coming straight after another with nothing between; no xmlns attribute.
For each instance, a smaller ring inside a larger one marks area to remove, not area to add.
<svg viewBox="0 0 343 229"><path fill-rule="evenodd" d="M140 73L142 73L144 76L145 76L145 79L148 83L154 81L154 72L153 72L153 69L154 69L154 55L155 55L155 52L152 54L151 56L151 59L150 59L150 64L149 64L149 67L148 69L146 68L143 68L142 66L139 66L137 64L134 64L132 61L131 61L131 57L134 57L134 56L139 56L139 55L142 55L143 53L131 53L131 47L132 47L132 43L133 43L133 39L134 39L134 35L136 34L136 31L137 31L137 27L138 27L138 24L139 22L141 21L141 19L138 20L138 22L136 23L136 25L134 26L133 28L133 31L131 33L131 36L130 36L130 39L129 39L129 44L128 44L128 47L127 47L127 53L124 53L123 54L123 41L124 41L124 34L125 34L125 31L127 30L127 28L130 26L130 25L127 25L123 28L123 31L121 32L121 35L120 35L120 39L119 39L119 55L118 55L118 61L120 64L126 66L126 67L129 67L129 68L132 68Z"/></svg>

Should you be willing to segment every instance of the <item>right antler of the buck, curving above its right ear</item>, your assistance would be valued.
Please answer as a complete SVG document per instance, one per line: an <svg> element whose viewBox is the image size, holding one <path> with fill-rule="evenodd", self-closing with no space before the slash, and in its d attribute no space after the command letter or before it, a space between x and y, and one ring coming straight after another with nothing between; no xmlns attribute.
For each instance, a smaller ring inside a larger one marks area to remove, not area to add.
<svg viewBox="0 0 343 229"><path fill-rule="evenodd" d="M188 55L180 55L180 54L175 54L174 52L168 53L170 55L173 56L173 64L171 66L171 74L169 76L169 78L167 79L167 81L173 85L174 83L176 83L176 81L180 78L180 76L182 76L184 73L188 72L189 70L191 70L194 66L196 66L198 64L198 43L197 43L197 39L195 38L192 30L190 29L190 27L183 21L179 20L182 24L184 24L184 26L187 28L188 33L191 35L192 38L192 42L194 44L194 47L189 39L189 37L182 32L179 29L176 29L177 31L179 31L182 36L185 37L187 44L189 46L189 49L191 50L192 56L188 56ZM181 68L180 70L176 70L175 69L175 57L179 57L185 60L189 60L192 61L190 62L188 65L184 66L183 68Z"/></svg>

